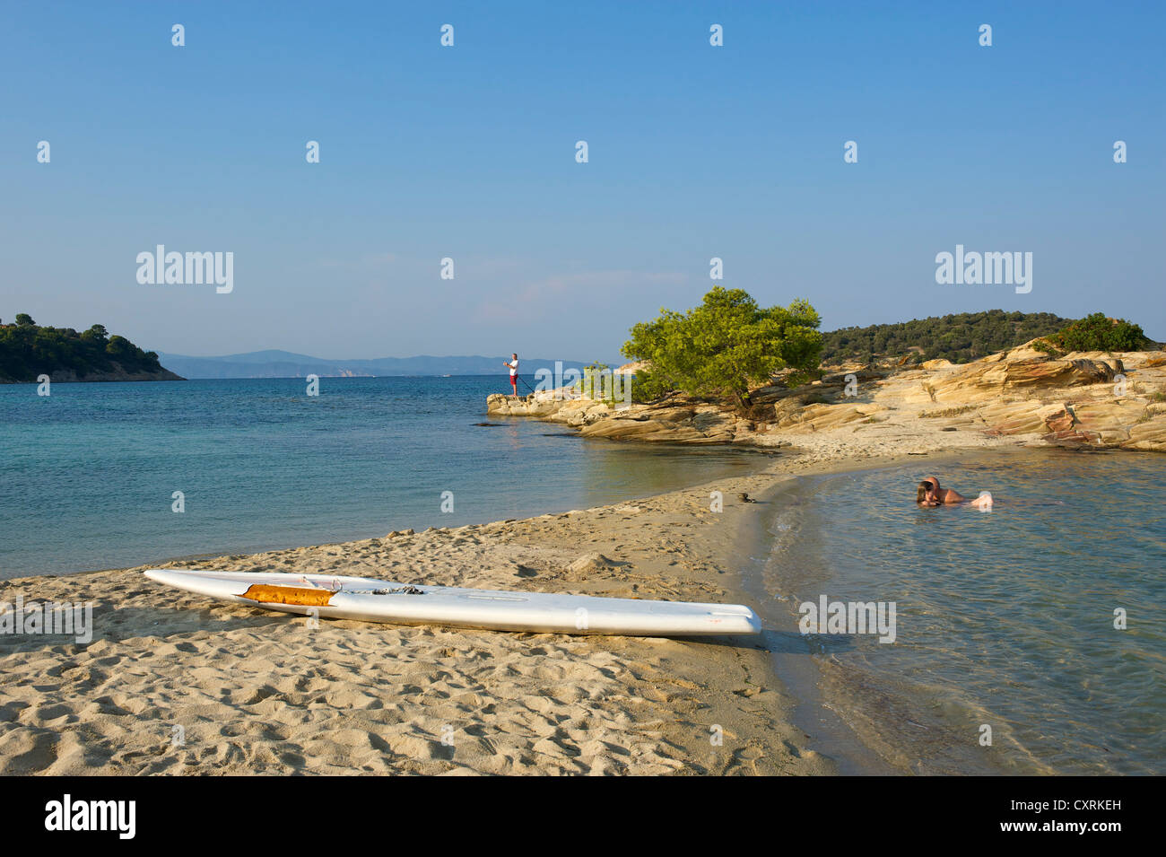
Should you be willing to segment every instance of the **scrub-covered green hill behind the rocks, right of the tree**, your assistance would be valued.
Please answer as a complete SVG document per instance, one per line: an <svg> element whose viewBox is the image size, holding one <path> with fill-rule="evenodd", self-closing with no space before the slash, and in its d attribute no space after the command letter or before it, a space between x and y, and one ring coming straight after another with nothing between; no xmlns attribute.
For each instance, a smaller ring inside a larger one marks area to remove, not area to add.
<svg viewBox="0 0 1166 857"><path fill-rule="evenodd" d="M920 360L943 358L968 363L1023 345L1038 336L1056 333L1073 319L1052 312L984 312L916 318L898 324L842 328L823 333L822 363L870 361L878 357L914 353Z"/></svg>

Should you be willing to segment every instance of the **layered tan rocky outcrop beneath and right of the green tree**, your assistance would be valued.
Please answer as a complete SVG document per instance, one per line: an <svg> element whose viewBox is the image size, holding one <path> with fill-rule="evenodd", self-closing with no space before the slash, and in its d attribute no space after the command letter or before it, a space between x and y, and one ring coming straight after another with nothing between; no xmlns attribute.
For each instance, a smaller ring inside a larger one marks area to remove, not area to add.
<svg viewBox="0 0 1166 857"><path fill-rule="evenodd" d="M487 409L611 440L774 447L806 443L807 436L887 437L898 430L1166 451L1163 351L1051 357L1030 343L962 365L841 367L799 387L761 387L751 399L747 417L687 396L613 407L562 391L519 400L492 395Z"/></svg>

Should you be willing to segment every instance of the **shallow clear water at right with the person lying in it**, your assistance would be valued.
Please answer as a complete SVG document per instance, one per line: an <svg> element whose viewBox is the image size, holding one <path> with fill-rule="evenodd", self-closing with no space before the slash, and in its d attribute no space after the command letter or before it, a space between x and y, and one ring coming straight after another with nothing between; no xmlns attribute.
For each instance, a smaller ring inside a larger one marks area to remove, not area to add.
<svg viewBox="0 0 1166 857"><path fill-rule="evenodd" d="M1164 463L1040 451L799 479L773 503L763 610L788 630L823 593L895 603L893 644L800 641L821 703L898 770L1161 774ZM997 505L920 508L929 475Z"/></svg>

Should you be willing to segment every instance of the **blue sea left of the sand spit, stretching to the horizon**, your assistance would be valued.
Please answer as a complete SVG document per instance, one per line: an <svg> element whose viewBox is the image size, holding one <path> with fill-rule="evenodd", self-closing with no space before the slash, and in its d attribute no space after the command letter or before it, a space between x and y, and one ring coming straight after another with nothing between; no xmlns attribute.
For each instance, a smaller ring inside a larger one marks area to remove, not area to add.
<svg viewBox="0 0 1166 857"><path fill-rule="evenodd" d="M301 379L0 386L0 577L561 512L765 463L473 426L503 377L319 384L315 398Z"/></svg>

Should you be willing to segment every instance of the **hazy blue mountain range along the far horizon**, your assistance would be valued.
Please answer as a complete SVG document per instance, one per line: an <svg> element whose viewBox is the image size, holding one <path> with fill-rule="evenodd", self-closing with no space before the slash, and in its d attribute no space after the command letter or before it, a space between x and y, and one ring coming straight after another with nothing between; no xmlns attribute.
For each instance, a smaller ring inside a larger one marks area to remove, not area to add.
<svg viewBox="0 0 1166 857"><path fill-rule="evenodd" d="M510 354L499 357L380 357L374 360L328 360L290 351L252 351L224 357L189 357L157 352L159 361L183 378L373 378L378 375L493 375L506 372L503 364ZM522 374L555 368L546 358L520 356ZM583 368L578 360L563 360L563 368ZM618 363L609 364L618 366Z"/></svg>

